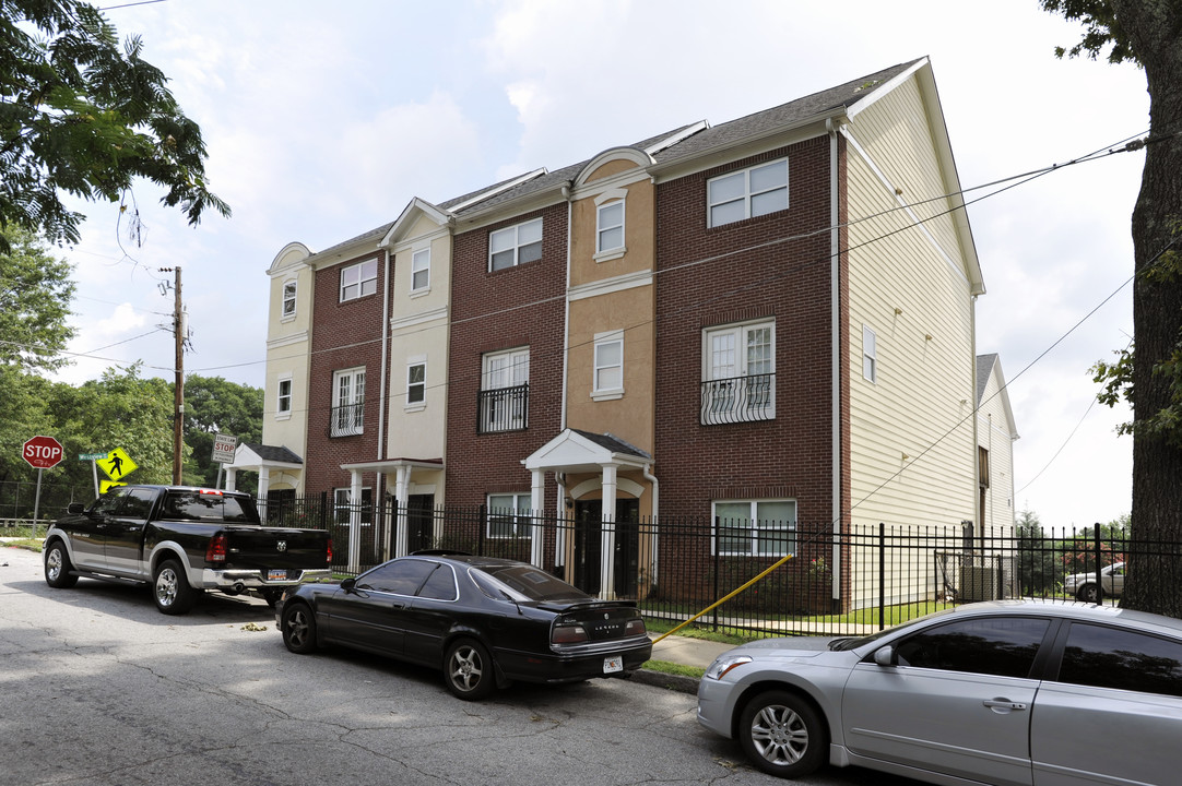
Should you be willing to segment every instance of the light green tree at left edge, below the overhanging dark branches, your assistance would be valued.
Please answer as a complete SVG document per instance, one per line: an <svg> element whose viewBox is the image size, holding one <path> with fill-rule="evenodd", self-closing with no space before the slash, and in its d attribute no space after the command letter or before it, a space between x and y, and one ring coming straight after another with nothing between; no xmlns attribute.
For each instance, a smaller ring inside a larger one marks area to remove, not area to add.
<svg viewBox="0 0 1182 786"><path fill-rule="evenodd" d="M71 267L54 259L28 232L0 230L0 365L18 370L59 369L74 329L66 324L74 284Z"/></svg>

